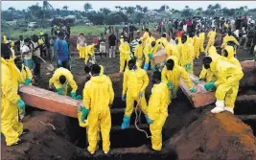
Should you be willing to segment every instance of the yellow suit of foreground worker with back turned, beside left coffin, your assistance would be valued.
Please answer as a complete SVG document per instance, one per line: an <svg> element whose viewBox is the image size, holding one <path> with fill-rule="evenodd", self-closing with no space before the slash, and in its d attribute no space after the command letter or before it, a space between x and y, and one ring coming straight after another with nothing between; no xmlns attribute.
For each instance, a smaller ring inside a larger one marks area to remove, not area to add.
<svg viewBox="0 0 256 160"><path fill-rule="evenodd" d="M105 75L92 77L83 89L83 106L89 109L88 114L88 151L93 153L97 146L98 132L101 130L103 150L109 151L109 134L111 128L111 115L109 104L114 101L114 91L111 80Z"/></svg>

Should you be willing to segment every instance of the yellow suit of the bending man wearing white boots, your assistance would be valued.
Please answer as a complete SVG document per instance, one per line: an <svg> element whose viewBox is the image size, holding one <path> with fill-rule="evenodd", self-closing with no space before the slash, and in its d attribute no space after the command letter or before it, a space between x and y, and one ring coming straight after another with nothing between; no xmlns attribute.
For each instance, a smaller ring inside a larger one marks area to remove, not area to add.
<svg viewBox="0 0 256 160"><path fill-rule="evenodd" d="M244 77L242 69L222 58L212 61L210 69L217 76L216 99L224 101L226 107L234 108L239 81Z"/></svg>

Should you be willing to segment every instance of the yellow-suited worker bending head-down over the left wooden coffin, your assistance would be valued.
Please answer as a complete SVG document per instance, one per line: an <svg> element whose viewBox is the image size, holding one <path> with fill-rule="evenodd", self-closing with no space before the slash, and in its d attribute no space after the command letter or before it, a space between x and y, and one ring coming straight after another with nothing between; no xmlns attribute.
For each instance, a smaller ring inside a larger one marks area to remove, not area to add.
<svg viewBox="0 0 256 160"><path fill-rule="evenodd" d="M78 85L76 81L73 79L72 73L63 67L58 68L53 77L49 80L49 87L53 88L53 84L57 89L58 95L67 95L68 85L71 86L71 98L75 100L81 100L81 95L77 96Z"/></svg>

